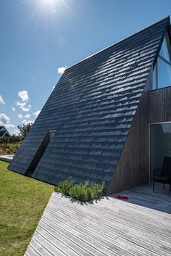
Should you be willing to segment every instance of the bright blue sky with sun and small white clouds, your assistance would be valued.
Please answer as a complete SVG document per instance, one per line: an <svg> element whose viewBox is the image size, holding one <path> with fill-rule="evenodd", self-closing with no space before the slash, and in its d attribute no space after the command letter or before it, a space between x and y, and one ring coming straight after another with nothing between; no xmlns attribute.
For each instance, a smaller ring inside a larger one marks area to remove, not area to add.
<svg viewBox="0 0 171 256"><path fill-rule="evenodd" d="M170 0L1 0L0 125L34 121L61 67L168 15Z"/></svg>

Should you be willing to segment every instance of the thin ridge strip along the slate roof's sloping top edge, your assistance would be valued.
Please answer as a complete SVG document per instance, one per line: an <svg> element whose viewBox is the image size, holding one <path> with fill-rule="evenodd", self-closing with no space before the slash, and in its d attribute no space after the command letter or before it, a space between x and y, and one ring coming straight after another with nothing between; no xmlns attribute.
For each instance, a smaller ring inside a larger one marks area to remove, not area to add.
<svg viewBox="0 0 171 256"><path fill-rule="evenodd" d="M130 36L127 36L127 37L125 37L125 38L122 38L121 40L115 42L114 44L112 44L112 45L110 45L110 46L105 47L104 49L101 49L101 50L99 50L99 51L96 51L94 54L91 54L91 55L89 55L88 57L86 57L86 58L84 58L84 59L81 59L81 60L78 61L78 62L75 62L75 64L71 65L70 67L67 67L66 70L70 69L71 67L74 67L75 65L78 65L80 62L83 62L83 61L85 61L86 59L89 59L89 58L93 57L93 56L96 55L96 54L99 54L101 51L105 51L106 49L109 49L110 47L112 47L112 46L114 46L114 45L116 45L116 44L119 44L120 42L122 42L122 41L124 41L124 40L126 40L126 39L128 39L128 38L130 38L130 37L132 37L132 36L135 36L135 35L138 34L138 33L141 33L143 30L146 30L146 29L148 29L148 28L151 28L151 27L154 26L154 25L157 25L157 23L162 22L162 21L164 21L164 20L170 20L170 15L168 15L167 17L164 17L162 20L159 20L159 21L157 21L157 22L152 23L152 24L149 25L149 26L146 26L145 28L143 28L143 29L141 29L141 30L138 30L137 32L131 34Z"/></svg>

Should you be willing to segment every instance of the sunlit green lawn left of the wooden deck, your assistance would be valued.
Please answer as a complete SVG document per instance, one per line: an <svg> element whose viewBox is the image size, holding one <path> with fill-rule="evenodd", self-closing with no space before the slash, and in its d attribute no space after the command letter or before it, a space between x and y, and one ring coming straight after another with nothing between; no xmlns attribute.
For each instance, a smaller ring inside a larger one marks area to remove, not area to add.
<svg viewBox="0 0 171 256"><path fill-rule="evenodd" d="M0 256L23 256L54 186L7 166L0 161Z"/></svg>

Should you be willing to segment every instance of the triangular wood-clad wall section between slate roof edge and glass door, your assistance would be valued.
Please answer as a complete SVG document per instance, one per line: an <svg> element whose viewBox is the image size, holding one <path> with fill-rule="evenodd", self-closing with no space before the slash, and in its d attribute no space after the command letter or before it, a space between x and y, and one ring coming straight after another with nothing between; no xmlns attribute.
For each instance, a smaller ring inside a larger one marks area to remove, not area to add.
<svg viewBox="0 0 171 256"><path fill-rule="evenodd" d="M148 90L151 74L125 141L108 194L149 182Z"/></svg>

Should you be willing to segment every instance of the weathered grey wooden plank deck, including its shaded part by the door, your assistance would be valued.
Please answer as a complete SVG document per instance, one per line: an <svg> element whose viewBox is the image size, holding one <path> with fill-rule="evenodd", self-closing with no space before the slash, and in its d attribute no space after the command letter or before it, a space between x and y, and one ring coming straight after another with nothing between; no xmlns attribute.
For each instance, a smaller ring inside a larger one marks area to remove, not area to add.
<svg viewBox="0 0 171 256"><path fill-rule="evenodd" d="M171 197L157 184L80 204L54 192L25 256L170 256Z"/></svg>

